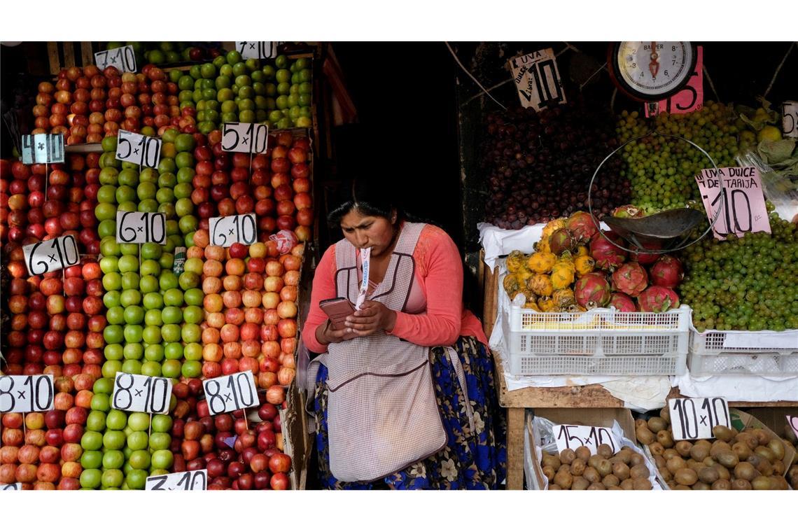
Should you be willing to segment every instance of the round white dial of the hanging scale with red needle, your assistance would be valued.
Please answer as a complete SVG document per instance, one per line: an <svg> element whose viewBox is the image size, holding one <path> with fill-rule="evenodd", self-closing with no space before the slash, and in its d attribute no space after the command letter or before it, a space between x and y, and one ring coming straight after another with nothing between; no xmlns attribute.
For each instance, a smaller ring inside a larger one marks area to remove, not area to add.
<svg viewBox="0 0 798 532"><path fill-rule="evenodd" d="M618 86L636 100L656 101L678 93L695 68L685 41L621 41L610 52Z"/></svg>

